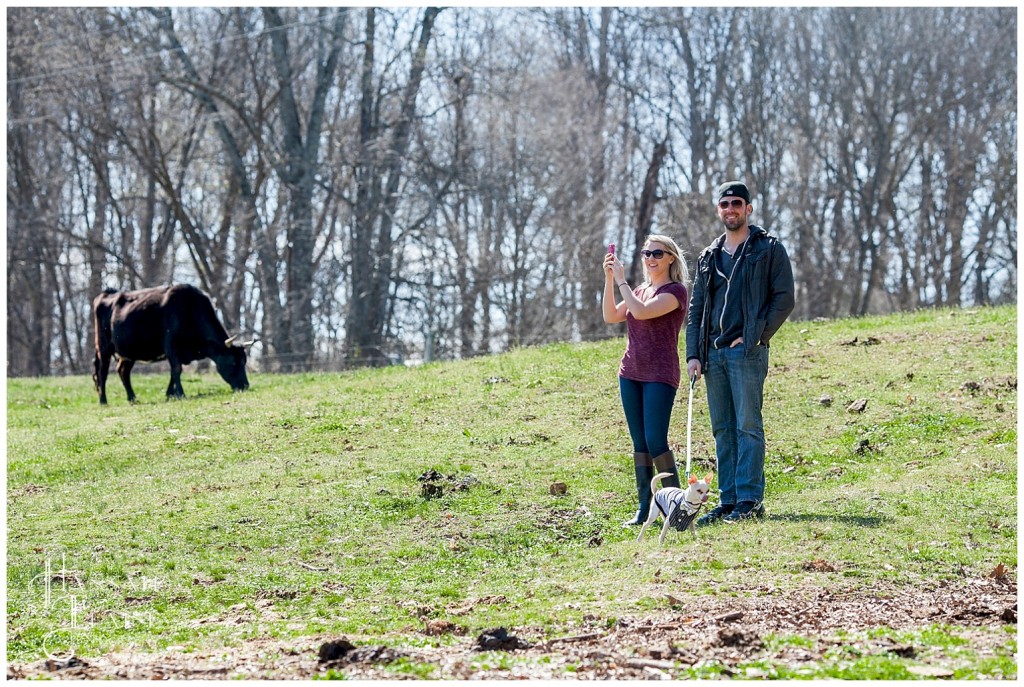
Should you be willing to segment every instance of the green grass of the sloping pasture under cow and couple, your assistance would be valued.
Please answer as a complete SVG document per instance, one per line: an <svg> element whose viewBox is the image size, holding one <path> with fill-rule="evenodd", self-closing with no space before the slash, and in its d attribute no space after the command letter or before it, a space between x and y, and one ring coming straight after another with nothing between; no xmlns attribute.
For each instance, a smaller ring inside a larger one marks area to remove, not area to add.
<svg viewBox="0 0 1024 687"><path fill-rule="evenodd" d="M662 551L618 526L636 503L622 339L257 375L242 394L186 374L176 402L164 374L138 376L134 406L116 379L105 407L85 377L8 380L7 658L317 634L408 645L426 641L421 615L497 595L506 601L459 624L557 635L587 614L656 607L655 570L696 594L752 581L909 589L1000 563L1016 577L1016 315L788 323L766 387L769 518ZM700 472L714 453L702 385L695 393ZM847 410L862 398L864 412ZM685 389L676 404L682 462ZM417 477L431 469L469 486L425 499ZM549 493L556 480L566 495ZM804 569L817 559L835 571ZM1005 676L1012 656L975 657L964 675ZM809 677L902 679L909 664L839 656ZM690 677L701 672L715 669Z"/></svg>

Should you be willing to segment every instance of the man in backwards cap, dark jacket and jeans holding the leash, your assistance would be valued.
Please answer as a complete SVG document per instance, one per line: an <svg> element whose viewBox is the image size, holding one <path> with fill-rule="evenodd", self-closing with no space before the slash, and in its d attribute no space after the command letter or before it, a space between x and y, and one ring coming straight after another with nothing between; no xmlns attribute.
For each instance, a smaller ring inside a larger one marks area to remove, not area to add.
<svg viewBox="0 0 1024 687"><path fill-rule="evenodd" d="M697 256L686 319L686 368L691 379L706 377L721 492L699 525L764 517L768 342L794 306L790 256L748 223L746 184L728 181L716 196L725 233Z"/></svg>

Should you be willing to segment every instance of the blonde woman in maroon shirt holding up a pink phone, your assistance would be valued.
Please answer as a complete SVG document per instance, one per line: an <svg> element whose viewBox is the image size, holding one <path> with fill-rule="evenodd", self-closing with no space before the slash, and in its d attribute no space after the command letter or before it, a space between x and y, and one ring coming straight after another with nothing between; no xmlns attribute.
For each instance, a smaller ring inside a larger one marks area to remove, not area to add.
<svg viewBox="0 0 1024 687"><path fill-rule="evenodd" d="M679 486L676 457L669 450L669 421L679 388L679 331L686 321L689 276L679 247L669 237L647 237L644 282L633 289L623 263L604 256L604 321L625 321L627 344L618 368L618 391L633 439L633 465L640 508L626 525L640 525L650 509L654 470L672 473L662 486ZM615 303L615 293L622 301ZM653 458L652 458L653 457Z"/></svg>

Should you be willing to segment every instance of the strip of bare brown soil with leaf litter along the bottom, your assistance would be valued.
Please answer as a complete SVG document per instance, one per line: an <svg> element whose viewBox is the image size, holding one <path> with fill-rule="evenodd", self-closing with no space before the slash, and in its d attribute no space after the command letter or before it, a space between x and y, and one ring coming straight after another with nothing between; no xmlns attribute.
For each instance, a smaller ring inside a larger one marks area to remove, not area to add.
<svg viewBox="0 0 1024 687"><path fill-rule="evenodd" d="M458 639L451 646L428 648L403 648L400 639L389 641L391 646L358 638L267 639L190 654L112 653L11 664L7 678L284 680L333 670L355 679L658 679L710 662L724 665L725 677L751 678L759 676L732 669L758 659L795 669L813 665L828 649L844 644L837 639L840 631L912 630L934 624L961 628L956 634L977 655L985 656L1007 642L1006 634L992 632L993 627L1017 624L1017 584L1007 577L986 578L869 594L821 588L783 593L762 587L727 598L667 595L666 605L665 611L620 618L612 628L587 616L588 625L577 634L553 639L531 628L497 628L476 636L453 633ZM425 628L422 635L428 634L435 633ZM772 650L765 641L769 635L798 635L810 643ZM883 637L860 640L857 649L861 655L913 658L935 677L952 674L953 659L934 646L915 647ZM502 661L497 653L510 660ZM433 671L403 672L410 663L431 665Z"/></svg>

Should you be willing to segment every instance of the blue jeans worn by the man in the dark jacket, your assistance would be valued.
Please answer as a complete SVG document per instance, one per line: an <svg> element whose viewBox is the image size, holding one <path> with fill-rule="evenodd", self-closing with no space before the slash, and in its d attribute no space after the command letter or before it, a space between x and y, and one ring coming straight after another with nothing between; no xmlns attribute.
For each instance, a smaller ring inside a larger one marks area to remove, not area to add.
<svg viewBox="0 0 1024 687"><path fill-rule="evenodd" d="M703 371L708 412L718 455L721 503L761 502L765 495L765 428L761 417L768 348L759 345L751 357L742 344L708 351Z"/></svg>

